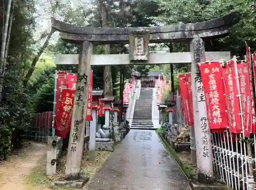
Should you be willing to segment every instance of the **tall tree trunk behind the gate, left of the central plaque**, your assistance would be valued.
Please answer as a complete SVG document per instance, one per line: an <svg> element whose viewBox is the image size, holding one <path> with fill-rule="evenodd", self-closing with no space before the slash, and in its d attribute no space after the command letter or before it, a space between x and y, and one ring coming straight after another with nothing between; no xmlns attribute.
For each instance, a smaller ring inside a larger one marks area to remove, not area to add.
<svg viewBox="0 0 256 190"><path fill-rule="evenodd" d="M103 1L99 1L99 11L101 14L102 28L108 28L109 24L106 16L107 14L106 7ZM104 45L104 53L110 54L110 45ZM104 78L104 95L113 96L112 72L111 72L110 65L104 66L103 78Z"/></svg>

